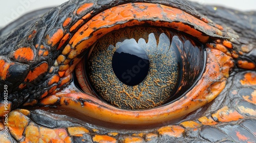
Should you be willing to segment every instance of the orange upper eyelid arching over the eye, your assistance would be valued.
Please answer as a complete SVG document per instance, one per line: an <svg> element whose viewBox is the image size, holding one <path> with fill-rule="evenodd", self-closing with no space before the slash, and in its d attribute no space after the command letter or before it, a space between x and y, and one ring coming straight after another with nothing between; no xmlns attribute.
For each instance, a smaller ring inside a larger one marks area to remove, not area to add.
<svg viewBox="0 0 256 143"><path fill-rule="evenodd" d="M209 37L225 38L219 29L179 9L151 3L123 4L97 14L81 26L65 47L72 49L67 56L69 59L77 57L97 39L111 31L143 25L172 28L193 34L193 37L203 43Z"/></svg>

